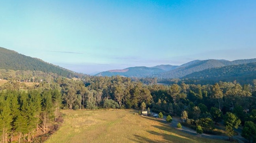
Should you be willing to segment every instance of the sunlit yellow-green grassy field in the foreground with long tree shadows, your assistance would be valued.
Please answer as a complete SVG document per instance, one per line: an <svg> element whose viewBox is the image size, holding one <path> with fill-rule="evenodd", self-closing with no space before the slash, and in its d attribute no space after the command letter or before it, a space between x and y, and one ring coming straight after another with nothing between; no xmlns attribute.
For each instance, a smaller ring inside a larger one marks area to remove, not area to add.
<svg viewBox="0 0 256 143"><path fill-rule="evenodd" d="M230 143L192 136L134 110L62 110L62 127L46 143Z"/></svg>

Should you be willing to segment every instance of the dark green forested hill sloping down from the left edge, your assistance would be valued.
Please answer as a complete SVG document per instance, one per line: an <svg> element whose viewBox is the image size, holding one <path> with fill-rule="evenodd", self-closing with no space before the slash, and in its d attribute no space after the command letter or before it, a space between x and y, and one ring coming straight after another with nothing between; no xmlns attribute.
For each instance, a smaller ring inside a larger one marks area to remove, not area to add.
<svg viewBox="0 0 256 143"><path fill-rule="evenodd" d="M53 65L43 60L32 58L0 47L0 69L20 71L52 72L64 77L74 77L78 73Z"/></svg>

